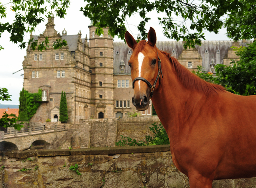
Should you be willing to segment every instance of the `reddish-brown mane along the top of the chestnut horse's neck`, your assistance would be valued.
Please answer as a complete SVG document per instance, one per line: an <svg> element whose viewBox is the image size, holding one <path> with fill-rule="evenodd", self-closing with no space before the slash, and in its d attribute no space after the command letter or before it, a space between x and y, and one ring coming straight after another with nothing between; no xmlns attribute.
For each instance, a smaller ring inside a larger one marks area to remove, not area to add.
<svg viewBox="0 0 256 188"><path fill-rule="evenodd" d="M160 51L167 56L174 68L174 72L176 73L178 80L180 80L185 88L188 88L190 90L196 90L206 95L218 93L219 91L221 92L225 90L220 85L212 84L199 78L198 76L187 70L184 66L182 66L182 64L180 64L180 62L178 62L176 58L171 57L170 54L168 54L167 52L164 52L162 50Z"/></svg>

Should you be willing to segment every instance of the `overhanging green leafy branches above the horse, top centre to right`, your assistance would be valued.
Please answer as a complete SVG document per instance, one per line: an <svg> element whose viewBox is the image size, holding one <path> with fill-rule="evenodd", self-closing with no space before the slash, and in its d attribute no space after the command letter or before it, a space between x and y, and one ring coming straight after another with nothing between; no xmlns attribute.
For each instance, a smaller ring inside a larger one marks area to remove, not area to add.
<svg viewBox="0 0 256 188"><path fill-rule="evenodd" d="M228 14L226 24L231 26L233 22L233 13L238 12L239 16L246 15L250 11L250 7L254 6L254 0L85 0L88 4L81 8L84 15L93 20L96 34L102 33L101 28L109 26L109 32L112 36L118 36L124 39L126 32L126 18L131 17L135 13L139 13L141 18L138 30L142 35L142 39L147 38L145 25L149 22L148 14L156 10L156 12L165 13L163 18L158 17L159 24L162 26L164 36L177 41L183 40L184 47L201 44L201 40L205 40L204 31L218 33L218 30L224 26L222 16ZM250 14L254 15L255 14ZM157 16L157 15L156 15ZM181 22L176 22L177 17L181 17ZM190 24L186 25L189 21ZM249 19L248 19L249 20ZM250 25L250 23L248 23ZM241 25L242 26L242 25ZM233 28L231 28L233 29ZM192 32L191 32L192 31ZM245 30L241 30L245 32ZM236 38L237 40L241 37Z"/></svg>

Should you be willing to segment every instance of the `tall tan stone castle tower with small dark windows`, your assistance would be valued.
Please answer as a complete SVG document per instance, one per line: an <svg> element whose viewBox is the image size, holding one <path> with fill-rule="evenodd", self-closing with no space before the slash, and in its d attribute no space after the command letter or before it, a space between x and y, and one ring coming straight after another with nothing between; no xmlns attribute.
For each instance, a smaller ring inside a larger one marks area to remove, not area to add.
<svg viewBox="0 0 256 188"><path fill-rule="evenodd" d="M114 117L113 38L108 34L98 36L96 27L89 26L89 54L91 76L91 115L94 118Z"/></svg>

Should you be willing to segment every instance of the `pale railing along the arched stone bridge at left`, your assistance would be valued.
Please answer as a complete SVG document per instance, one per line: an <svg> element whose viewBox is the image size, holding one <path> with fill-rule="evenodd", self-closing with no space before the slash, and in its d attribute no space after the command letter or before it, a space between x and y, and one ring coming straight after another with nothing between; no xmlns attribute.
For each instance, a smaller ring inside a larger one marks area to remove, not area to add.
<svg viewBox="0 0 256 188"><path fill-rule="evenodd" d="M17 136L30 136L34 134L44 134L56 131L66 130L66 124L64 125L54 125L50 127L40 126L40 127L33 127L33 128L22 128L21 130L13 130L9 129L4 131L4 138L11 138Z"/></svg>

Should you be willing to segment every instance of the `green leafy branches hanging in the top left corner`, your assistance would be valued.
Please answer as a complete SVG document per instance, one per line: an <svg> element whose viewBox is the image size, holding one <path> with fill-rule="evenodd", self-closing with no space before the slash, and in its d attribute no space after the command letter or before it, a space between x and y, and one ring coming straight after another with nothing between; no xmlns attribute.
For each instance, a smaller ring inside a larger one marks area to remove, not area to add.
<svg viewBox="0 0 256 188"><path fill-rule="evenodd" d="M47 6L49 4L49 6ZM26 47L26 41L24 36L26 32L34 32L38 24L44 22L45 17L51 16L51 12L56 12L56 15L60 18L64 18L66 10L70 5L70 0L13 0L7 4L0 2L0 18L7 17L6 7L11 6L11 10L15 12L15 19L13 23L0 22L0 37L5 31L11 34L10 41L19 43L20 48ZM49 40L46 38L44 42L38 44L38 41L31 39L29 43L32 43L33 50L45 50L48 47ZM66 41L56 40L56 44L53 45L54 49L66 46ZM4 49L0 44L0 50Z"/></svg>

